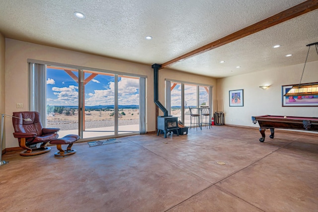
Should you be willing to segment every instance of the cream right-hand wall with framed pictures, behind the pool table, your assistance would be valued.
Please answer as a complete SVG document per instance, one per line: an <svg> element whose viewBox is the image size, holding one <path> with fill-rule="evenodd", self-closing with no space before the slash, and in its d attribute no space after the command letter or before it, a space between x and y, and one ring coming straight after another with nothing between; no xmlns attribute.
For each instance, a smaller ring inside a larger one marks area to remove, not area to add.
<svg viewBox="0 0 318 212"><path fill-rule="evenodd" d="M282 106L282 86L298 84L304 64L280 67L217 80L218 101L224 103L225 124L256 126L251 116L318 117L318 107ZM302 83L318 82L318 61L308 62ZM259 86L270 85L266 90ZM244 106L229 106L229 91L244 89ZM257 124L258 127L258 124Z"/></svg>

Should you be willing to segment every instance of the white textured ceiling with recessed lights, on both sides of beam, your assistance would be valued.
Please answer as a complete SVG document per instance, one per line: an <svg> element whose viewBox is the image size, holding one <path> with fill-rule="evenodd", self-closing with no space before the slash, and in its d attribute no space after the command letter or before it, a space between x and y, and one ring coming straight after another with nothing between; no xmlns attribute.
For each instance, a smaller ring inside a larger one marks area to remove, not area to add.
<svg viewBox="0 0 318 212"><path fill-rule="evenodd" d="M304 0L0 0L6 37L151 65L164 63ZM74 16L79 11L85 19ZM152 40L146 40L150 35ZM318 9L168 67L216 78L303 63ZM273 49L280 44L282 47ZM314 48L313 48L314 49ZM285 57L291 53L293 56ZM220 63L225 60L225 63ZM318 60L314 51L309 61ZM241 66L239 69L236 66Z"/></svg>

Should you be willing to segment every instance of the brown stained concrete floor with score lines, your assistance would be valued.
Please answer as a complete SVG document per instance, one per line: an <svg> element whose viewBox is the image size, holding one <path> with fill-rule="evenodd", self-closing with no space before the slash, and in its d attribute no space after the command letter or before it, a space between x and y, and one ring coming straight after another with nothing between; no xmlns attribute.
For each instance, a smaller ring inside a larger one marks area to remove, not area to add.
<svg viewBox="0 0 318 212"><path fill-rule="evenodd" d="M318 136L213 126L118 138L0 166L1 212L314 212ZM218 162L225 162L225 165Z"/></svg>

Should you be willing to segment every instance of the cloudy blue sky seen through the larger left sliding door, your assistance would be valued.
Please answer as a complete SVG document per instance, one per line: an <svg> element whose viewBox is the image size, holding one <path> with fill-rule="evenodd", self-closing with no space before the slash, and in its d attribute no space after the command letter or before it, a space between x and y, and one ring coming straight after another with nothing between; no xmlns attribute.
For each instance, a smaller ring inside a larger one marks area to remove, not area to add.
<svg viewBox="0 0 318 212"><path fill-rule="evenodd" d="M64 70L48 68L46 84L47 105L78 106L79 85ZM98 74L85 85L85 106L98 105L114 105L113 76ZM139 105L139 79L118 78L118 105Z"/></svg>

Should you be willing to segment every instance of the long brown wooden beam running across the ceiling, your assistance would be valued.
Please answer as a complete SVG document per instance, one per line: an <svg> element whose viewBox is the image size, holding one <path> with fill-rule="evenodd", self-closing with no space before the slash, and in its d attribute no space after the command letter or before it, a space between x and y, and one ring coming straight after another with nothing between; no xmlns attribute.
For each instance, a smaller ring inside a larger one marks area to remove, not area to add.
<svg viewBox="0 0 318 212"><path fill-rule="evenodd" d="M189 53L185 53L181 56L178 56L174 59L171 59L170 61L164 62L161 64L161 68L164 68L168 65L171 65L177 61L184 60L184 59L189 58L191 56L195 56L197 54L216 49L216 48L221 47L225 44L239 40L240 38L254 34L254 33L259 32L261 30L272 27L274 25L280 24L282 22L285 22L285 21L290 20L292 18L295 18L297 16L303 15L307 12L311 12L315 9L318 9L318 0L304 1L303 3L300 3L300 4L293 6L289 9L286 9L280 13L277 13L276 15L273 15L273 16L266 18L262 21L259 21L253 25L245 27L245 28L243 28L235 33L232 33L228 36L225 36L225 37L223 37L219 40L216 40L210 44L207 44L207 45L200 47L196 50L193 50Z"/></svg>

